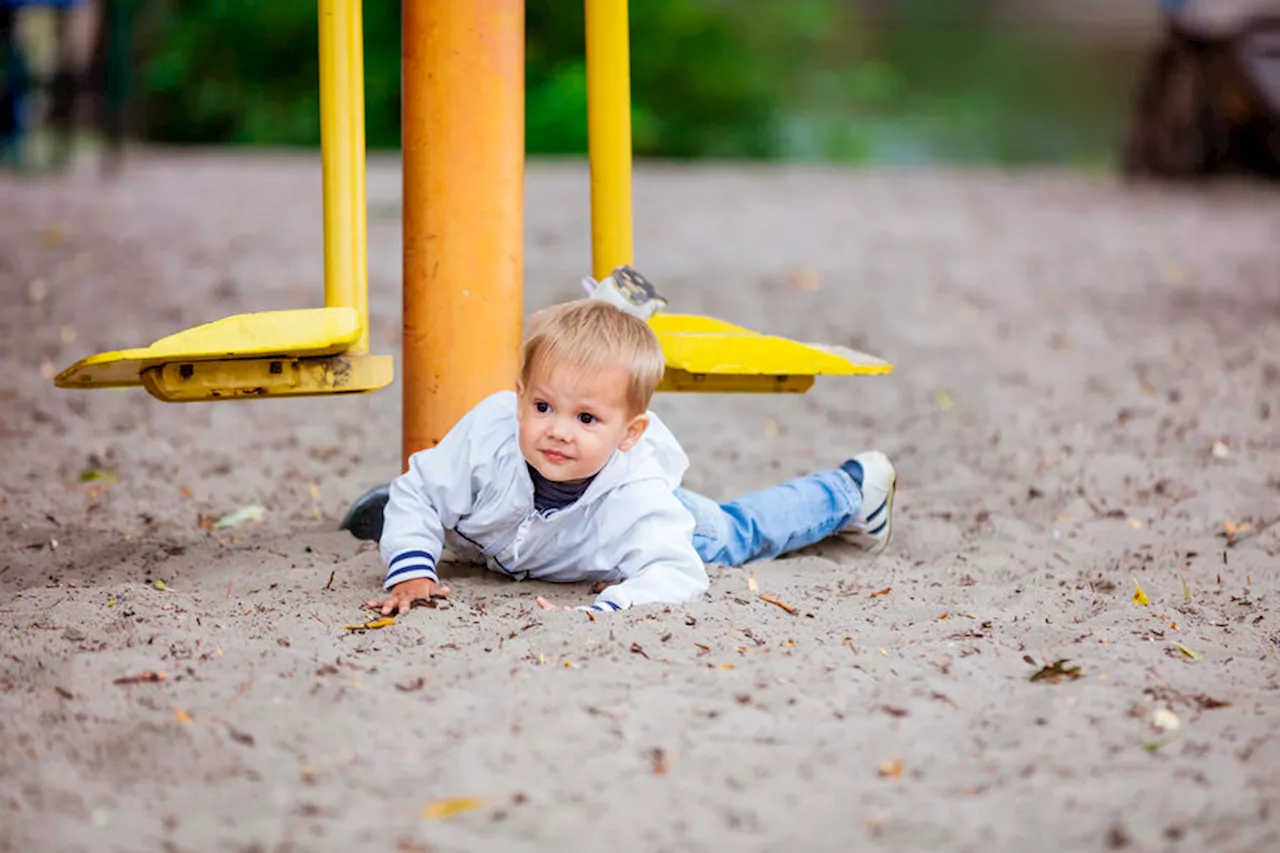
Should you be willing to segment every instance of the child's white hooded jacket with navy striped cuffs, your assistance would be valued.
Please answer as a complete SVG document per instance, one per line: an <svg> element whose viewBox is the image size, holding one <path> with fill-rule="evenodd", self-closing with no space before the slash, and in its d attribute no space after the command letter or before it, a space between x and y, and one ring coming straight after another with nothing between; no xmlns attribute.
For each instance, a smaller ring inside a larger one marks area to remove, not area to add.
<svg viewBox="0 0 1280 853"><path fill-rule="evenodd" d="M707 569L694 517L675 494L687 467L676 437L649 412L640 442L614 452L581 498L540 514L517 441L516 394L495 393L392 482L379 543L384 587L438 580L448 546L516 580L612 584L593 610L696 601Z"/></svg>

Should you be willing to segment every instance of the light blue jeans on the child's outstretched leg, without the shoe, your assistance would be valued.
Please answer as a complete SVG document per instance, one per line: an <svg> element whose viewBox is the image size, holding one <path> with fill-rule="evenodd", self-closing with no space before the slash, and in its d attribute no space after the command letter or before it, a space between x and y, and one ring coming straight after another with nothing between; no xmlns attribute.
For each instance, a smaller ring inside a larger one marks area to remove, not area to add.
<svg viewBox="0 0 1280 853"><path fill-rule="evenodd" d="M863 507L861 491L838 469L797 476L728 503L687 489L676 489L676 497L694 514L698 556L728 566L822 542Z"/></svg>

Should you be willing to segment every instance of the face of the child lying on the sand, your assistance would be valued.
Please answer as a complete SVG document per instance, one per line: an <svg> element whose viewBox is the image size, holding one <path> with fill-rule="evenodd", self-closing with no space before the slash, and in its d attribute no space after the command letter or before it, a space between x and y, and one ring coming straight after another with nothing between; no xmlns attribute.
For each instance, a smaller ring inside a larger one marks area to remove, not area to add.
<svg viewBox="0 0 1280 853"><path fill-rule="evenodd" d="M584 374L571 366L541 365L518 383L520 451L549 480L594 476L613 451L628 451L649 419L627 405L625 368Z"/></svg>

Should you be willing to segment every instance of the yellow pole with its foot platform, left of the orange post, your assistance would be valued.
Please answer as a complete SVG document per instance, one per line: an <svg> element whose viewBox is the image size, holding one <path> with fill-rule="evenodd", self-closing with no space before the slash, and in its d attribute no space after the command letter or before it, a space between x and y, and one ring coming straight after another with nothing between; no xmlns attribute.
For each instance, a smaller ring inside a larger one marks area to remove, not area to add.
<svg viewBox="0 0 1280 853"><path fill-rule="evenodd" d="M365 88L358 0L320 0L324 307L238 314L102 352L54 378L59 388L142 386L165 402L375 391L392 357L369 352Z"/></svg>

